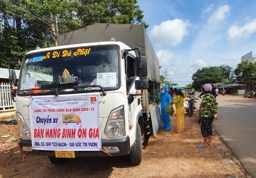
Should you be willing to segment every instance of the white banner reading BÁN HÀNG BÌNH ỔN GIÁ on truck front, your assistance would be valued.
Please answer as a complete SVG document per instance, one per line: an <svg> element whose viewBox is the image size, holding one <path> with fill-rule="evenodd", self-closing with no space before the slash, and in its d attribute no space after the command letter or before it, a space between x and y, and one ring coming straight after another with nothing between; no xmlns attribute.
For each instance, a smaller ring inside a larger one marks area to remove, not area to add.
<svg viewBox="0 0 256 178"><path fill-rule="evenodd" d="M97 95L30 99L34 150L101 150Z"/></svg>

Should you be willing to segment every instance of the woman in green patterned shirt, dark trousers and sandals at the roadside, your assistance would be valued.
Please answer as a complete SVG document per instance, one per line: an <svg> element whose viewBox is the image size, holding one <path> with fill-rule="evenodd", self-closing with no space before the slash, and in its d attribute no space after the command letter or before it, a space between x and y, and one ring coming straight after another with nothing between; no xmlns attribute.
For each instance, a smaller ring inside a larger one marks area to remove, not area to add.
<svg viewBox="0 0 256 178"><path fill-rule="evenodd" d="M211 94L212 85L206 83L203 85L203 98L200 103L200 116L201 121L201 133L203 136L203 143L199 144L198 148L207 148L212 146L212 121L214 120L214 114L217 113L218 103L216 98Z"/></svg>

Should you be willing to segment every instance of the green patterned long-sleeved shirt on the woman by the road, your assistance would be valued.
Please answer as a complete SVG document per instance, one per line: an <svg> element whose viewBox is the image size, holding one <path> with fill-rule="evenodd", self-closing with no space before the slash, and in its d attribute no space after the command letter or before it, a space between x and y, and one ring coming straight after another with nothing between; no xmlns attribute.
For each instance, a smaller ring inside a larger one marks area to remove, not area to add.
<svg viewBox="0 0 256 178"><path fill-rule="evenodd" d="M200 114L201 117L211 117L217 113L218 103L216 98L211 94L207 93L203 96L202 102L200 103Z"/></svg>

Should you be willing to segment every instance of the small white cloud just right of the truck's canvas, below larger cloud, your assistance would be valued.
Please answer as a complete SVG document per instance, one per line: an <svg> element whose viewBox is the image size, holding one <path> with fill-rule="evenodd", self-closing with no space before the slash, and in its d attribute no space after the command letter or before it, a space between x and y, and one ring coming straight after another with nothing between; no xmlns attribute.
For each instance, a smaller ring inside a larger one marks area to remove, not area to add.
<svg viewBox="0 0 256 178"><path fill-rule="evenodd" d="M156 55L159 59L160 66L167 68L173 64L173 53L169 50L159 50L156 52Z"/></svg>

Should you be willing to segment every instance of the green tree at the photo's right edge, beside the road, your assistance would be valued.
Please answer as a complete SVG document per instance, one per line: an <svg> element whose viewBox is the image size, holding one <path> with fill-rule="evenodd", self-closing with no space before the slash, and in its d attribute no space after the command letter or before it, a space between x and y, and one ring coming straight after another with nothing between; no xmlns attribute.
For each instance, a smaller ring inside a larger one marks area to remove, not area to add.
<svg viewBox="0 0 256 178"><path fill-rule="evenodd" d="M242 61L237 68L235 69L234 73L239 75L242 73L242 81L246 85L248 85L251 89L254 85L254 80L256 79L256 63L251 63L249 61Z"/></svg>

